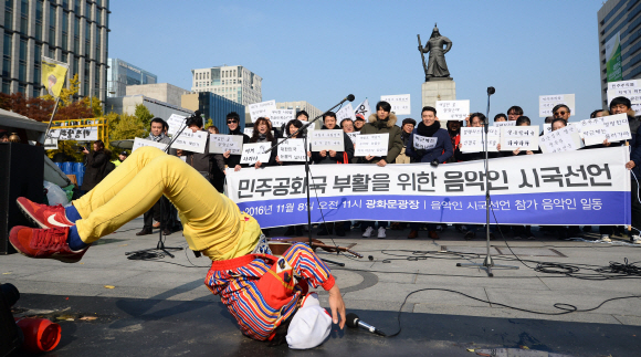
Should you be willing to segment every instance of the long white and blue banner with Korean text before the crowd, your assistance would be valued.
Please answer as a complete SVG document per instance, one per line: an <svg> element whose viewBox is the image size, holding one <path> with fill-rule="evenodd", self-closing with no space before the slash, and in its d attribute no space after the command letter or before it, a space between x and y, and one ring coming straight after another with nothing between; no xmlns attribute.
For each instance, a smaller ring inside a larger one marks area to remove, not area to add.
<svg viewBox="0 0 641 357"><path fill-rule="evenodd" d="M492 208L501 224L630 224L626 147L490 161ZM485 223L484 161L440 165L318 165L309 189L312 222ZM307 220L307 186L297 166L228 172L228 195L261 228ZM322 216L323 214L323 216Z"/></svg>

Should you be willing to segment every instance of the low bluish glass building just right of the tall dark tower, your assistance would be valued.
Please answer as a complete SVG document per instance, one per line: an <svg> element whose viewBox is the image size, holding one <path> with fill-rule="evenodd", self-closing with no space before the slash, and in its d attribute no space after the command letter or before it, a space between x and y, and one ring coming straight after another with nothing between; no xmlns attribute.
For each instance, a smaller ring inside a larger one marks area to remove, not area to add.
<svg viewBox="0 0 641 357"><path fill-rule="evenodd" d="M119 59L107 60L107 93L111 97L125 96L127 85L156 84L158 76Z"/></svg>

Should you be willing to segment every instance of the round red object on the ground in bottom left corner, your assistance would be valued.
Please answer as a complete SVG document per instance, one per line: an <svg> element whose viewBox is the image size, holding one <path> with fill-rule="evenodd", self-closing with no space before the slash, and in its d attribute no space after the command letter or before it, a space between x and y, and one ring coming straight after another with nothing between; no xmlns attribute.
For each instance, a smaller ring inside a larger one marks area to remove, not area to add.
<svg viewBox="0 0 641 357"><path fill-rule="evenodd" d="M15 324L24 335L22 348L30 353L50 351L60 343L60 325L46 318L15 318Z"/></svg>

